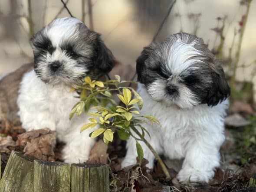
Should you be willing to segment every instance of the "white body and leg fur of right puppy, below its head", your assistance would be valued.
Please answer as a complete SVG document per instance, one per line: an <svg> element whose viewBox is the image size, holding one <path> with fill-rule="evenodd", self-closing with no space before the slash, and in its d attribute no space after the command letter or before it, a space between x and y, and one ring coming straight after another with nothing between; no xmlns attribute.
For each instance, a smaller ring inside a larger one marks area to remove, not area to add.
<svg viewBox="0 0 256 192"><path fill-rule="evenodd" d="M159 94L162 94L161 89L155 92L160 91ZM219 149L224 141L224 116L228 100L214 107L200 104L191 109L182 109L176 104L167 105L152 100L142 84L138 85L138 93L144 100L141 113L153 115L162 124L161 127L143 124L151 136L146 136L146 139L157 153L170 159L184 158L182 169L177 175L179 181L209 182L214 175L214 168L220 165ZM144 157L149 161L148 167L153 168L153 153L144 143L141 146ZM127 147L122 167L136 163L137 152L133 138L128 140Z"/></svg>

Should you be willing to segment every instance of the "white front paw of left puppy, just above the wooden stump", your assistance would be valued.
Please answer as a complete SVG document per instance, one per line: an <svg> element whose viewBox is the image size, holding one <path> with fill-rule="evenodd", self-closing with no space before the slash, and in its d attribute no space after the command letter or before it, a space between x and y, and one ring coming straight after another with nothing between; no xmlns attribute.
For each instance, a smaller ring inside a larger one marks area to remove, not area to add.
<svg viewBox="0 0 256 192"><path fill-rule="evenodd" d="M86 163L89 159L89 153L75 153L76 150L72 150L69 147L63 149L62 158L65 163Z"/></svg>

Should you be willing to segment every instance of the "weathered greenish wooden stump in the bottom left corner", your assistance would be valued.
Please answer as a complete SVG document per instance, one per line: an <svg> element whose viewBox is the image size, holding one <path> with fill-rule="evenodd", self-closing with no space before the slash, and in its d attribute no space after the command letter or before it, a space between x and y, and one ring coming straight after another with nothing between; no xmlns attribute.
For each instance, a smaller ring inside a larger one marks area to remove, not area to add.
<svg viewBox="0 0 256 192"><path fill-rule="evenodd" d="M0 192L108 192L108 164L36 160L12 151Z"/></svg>

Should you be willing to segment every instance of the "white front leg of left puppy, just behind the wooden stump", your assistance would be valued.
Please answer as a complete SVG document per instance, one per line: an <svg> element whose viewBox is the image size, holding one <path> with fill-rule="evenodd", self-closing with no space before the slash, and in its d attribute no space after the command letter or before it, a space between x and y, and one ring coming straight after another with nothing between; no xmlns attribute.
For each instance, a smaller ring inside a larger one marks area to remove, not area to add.
<svg viewBox="0 0 256 192"><path fill-rule="evenodd" d="M92 129L86 129L80 133L80 129L85 123L72 125L69 133L63 136L62 140L66 143L62 155L64 162L84 163L89 159L95 139L89 137L89 133L93 131Z"/></svg>

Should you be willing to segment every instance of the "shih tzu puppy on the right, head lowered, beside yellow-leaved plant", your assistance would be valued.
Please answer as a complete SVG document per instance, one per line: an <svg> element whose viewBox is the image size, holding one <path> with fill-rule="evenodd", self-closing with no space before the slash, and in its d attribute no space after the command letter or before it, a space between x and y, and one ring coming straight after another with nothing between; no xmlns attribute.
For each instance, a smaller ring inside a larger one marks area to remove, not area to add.
<svg viewBox="0 0 256 192"><path fill-rule="evenodd" d="M158 118L161 127L143 124L146 139L170 159L183 159L180 182L209 182L220 165L224 116L230 88L223 68L203 40L187 33L171 35L145 47L137 59L142 114ZM148 167L154 155L141 143ZM122 167L136 163L135 140L127 143Z"/></svg>

